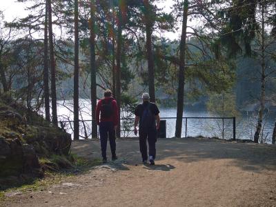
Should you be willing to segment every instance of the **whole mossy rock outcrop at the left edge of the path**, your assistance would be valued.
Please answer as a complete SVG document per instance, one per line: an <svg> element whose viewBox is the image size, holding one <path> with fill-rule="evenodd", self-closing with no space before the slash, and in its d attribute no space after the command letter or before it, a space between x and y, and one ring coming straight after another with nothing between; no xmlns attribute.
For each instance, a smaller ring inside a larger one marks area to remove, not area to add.
<svg viewBox="0 0 276 207"><path fill-rule="evenodd" d="M43 177L39 158L68 155L71 136L11 100L0 99L0 188L14 177Z"/></svg>

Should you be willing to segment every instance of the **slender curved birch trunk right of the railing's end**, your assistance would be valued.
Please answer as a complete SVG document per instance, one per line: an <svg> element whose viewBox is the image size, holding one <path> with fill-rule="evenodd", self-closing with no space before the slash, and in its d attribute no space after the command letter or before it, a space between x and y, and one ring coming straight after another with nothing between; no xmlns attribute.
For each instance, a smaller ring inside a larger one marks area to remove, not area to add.
<svg viewBox="0 0 276 207"><path fill-rule="evenodd" d="M265 64L265 45L264 45L264 6L262 6L262 79L261 79L261 97L259 99L260 101L260 107L259 107L259 114L258 114L258 121L256 126L256 132L254 135L254 142L259 143L259 134L262 130L262 121L264 117L264 103L266 99L266 64Z"/></svg>

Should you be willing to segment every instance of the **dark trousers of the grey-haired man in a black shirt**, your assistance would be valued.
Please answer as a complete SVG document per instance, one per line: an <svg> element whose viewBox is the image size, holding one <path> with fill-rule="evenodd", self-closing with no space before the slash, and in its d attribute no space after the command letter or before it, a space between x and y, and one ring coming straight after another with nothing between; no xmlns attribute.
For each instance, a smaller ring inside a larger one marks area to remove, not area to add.
<svg viewBox="0 0 276 207"><path fill-rule="evenodd" d="M147 152L147 144L146 144L147 139L148 139L148 152ZM153 159L155 159L156 141L157 141L156 129L146 130L146 131L139 130L139 145L140 145L140 152L143 160L148 159L148 154L149 156L152 156Z"/></svg>

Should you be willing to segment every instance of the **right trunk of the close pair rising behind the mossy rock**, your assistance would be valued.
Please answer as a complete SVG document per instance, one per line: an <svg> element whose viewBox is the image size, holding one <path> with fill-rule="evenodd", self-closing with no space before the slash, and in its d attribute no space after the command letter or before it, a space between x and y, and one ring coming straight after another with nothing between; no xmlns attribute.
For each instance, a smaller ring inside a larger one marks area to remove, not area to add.
<svg viewBox="0 0 276 207"><path fill-rule="evenodd" d="M48 0L48 29L50 48L50 70L51 70L51 97L52 97L52 123L57 126L57 90L56 90L56 63L54 56L54 41L52 35L52 2Z"/></svg>

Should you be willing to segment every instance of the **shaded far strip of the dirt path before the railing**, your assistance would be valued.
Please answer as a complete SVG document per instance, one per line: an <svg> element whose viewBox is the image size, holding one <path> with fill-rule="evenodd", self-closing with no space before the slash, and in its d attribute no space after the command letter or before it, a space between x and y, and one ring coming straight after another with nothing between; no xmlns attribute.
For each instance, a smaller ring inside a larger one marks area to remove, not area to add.
<svg viewBox="0 0 276 207"><path fill-rule="evenodd" d="M174 166L160 164L164 159L175 159L184 163L206 159L230 159L230 164L242 170L262 172L276 171L276 146L268 144L246 144L215 139L158 139L156 166L150 170L172 170ZM99 141L73 141L72 151L85 157L101 157ZM107 152L109 151L109 148ZM141 163L139 141L135 138L117 140L117 155L123 164L135 166Z"/></svg>

